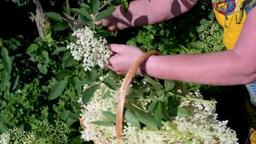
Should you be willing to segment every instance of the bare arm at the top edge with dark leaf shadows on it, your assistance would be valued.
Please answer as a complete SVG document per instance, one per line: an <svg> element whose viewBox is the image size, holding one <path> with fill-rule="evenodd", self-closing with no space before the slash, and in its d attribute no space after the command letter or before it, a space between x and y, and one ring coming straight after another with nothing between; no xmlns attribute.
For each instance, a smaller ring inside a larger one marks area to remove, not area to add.
<svg viewBox="0 0 256 144"><path fill-rule="evenodd" d="M122 21L133 27L155 24L188 11L196 2L197 0L151 0L149 3L148 0L133 0L129 3L128 13L119 6L113 16L120 19L118 27L121 29L129 27Z"/></svg>

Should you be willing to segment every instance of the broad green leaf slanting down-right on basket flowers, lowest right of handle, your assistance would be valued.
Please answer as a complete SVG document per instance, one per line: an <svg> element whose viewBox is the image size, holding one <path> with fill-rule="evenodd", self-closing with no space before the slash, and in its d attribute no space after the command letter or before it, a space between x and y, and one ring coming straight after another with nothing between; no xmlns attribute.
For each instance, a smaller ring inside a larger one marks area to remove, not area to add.
<svg viewBox="0 0 256 144"><path fill-rule="evenodd" d="M136 117L138 118L138 120L141 123L144 123L152 130L158 130L157 129L158 123L155 120L155 117L153 115L143 112L137 108L134 108L134 110L135 110L134 113L135 113Z"/></svg>

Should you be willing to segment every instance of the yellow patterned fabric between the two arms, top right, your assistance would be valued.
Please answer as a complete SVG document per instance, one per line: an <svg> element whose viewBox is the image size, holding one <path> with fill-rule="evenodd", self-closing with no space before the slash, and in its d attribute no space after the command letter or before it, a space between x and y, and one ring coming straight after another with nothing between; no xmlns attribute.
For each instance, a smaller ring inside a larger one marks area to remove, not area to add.
<svg viewBox="0 0 256 144"><path fill-rule="evenodd" d="M224 44L227 49L232 49L240 35L245 18L256 5L256 1L212 0L212 5L216 19L224 29Z"/></svg>

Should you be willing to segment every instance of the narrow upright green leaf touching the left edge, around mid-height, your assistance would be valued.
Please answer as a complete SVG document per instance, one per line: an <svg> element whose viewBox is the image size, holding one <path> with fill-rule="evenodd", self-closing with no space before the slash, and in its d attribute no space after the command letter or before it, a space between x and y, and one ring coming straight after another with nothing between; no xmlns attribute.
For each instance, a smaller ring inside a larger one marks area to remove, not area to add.
<svg viewBox="0 0 256 144"><path fill-rule="evenodd" d="M6 48L1 49L1 55L3 56L3 66L8 75L11 75L11 69L12 69L12 61L11 58L9 57L9 52Z"/></svg>

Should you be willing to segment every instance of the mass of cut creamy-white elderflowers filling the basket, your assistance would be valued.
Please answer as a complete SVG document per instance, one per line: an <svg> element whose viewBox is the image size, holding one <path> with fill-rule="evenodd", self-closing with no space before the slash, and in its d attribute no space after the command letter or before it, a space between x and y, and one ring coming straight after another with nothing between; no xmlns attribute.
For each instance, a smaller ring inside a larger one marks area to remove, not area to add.
<svg viewBox="0 0 256 144"><path fill-rule="evenodd" d="M181 101L180 106L189 109L190 117L177 116L171 121L162 121L161 131L150 131L125 123L123 139L115 139L115 125L94 125L91 122L108 121L102 111L116 114L118 92L104 83L96 84L99 85L98 89L82 109L81 116L86 127L82 131L84 141L92 140L97 144L237 144L236 133L227 127L227 121L217 120L216 102L203 100L200 92L189 93ZM87 87L85 85L84 88ZM110 96L104 97L105 93L110 93ZM139 103L138 106L145 105Z"/></svg>

